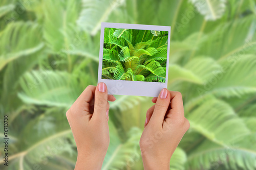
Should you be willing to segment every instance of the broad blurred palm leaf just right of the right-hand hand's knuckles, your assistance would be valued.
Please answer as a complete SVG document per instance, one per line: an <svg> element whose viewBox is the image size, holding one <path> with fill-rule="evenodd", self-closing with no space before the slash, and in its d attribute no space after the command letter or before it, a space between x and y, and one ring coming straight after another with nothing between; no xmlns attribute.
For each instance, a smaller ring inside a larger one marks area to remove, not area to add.
<svg viewBox="0 0 256 170"><path fill-rule="evenodd" d="M186 109L187 107L185 107ZM224 147L230 145L234 139L250 133L233 109L220 100L204 100L202 104L190 111L187 118L190 129ZM233 127L234 124L237 126ZM229 135L223 133L224 129L228 131Z"/></svg>

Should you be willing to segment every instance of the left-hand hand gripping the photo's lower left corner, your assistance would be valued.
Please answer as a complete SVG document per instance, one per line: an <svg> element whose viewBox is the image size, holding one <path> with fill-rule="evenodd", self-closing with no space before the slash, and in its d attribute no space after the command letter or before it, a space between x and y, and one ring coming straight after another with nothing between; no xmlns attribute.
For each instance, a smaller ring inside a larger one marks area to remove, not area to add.
<svg viewBox="0 0 256 170"><path fill-rule="evenodd" d="M101 169L110 143L108 101L115 100L104 83L90 85L67 111L78 152L75 169Z"/></svg>

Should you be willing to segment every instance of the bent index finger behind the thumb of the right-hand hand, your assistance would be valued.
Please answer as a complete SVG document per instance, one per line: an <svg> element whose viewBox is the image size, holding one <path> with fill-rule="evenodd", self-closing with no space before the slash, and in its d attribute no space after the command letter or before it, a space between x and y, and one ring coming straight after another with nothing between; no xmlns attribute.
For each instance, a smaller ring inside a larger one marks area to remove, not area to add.
<svg viewBox="0 0 256 170"><path fill-rule="evenodd" d="M179 91L170 92L170 110L167 112L167 118L179 119L184 118L184 108L182 95Z"/></svg>

